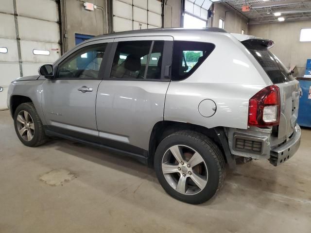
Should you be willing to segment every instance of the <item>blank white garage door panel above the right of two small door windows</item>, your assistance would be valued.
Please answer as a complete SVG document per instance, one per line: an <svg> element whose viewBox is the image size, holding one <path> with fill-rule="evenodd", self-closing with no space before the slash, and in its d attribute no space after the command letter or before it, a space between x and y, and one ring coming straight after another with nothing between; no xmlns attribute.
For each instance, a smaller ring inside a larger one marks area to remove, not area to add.
<svg viewBox="0 0 311 233"><path fill-rule="evenodd" d="M58 23L28 17L17 17L17 21L19 37L21 40L35 40L58 43Z"/></svg>

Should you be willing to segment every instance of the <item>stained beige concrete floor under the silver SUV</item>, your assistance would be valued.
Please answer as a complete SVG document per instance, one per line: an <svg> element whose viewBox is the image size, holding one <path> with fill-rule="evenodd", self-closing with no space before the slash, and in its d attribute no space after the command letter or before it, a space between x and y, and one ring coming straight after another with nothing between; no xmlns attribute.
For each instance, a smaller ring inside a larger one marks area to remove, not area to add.
<svg viewBox="0 0 311 233"><path fill-rule="evenodd" d="M224 187L201 205L174 200L153 169L107 151L67 140L25 147L8 111L0 138L0 233L311 232L308 129L288 162L227 169ZM44 182L51 171L68 181Z"/></svg>

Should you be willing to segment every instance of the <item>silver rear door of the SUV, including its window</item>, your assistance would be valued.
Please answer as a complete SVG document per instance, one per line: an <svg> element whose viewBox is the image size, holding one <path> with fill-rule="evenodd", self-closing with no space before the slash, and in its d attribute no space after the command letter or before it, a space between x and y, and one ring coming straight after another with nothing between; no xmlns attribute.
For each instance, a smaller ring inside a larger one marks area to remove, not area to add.
<svg viewBox="0 0 311 233"><path fill-rule="evenodd" d="M154 125L163 120L173 37L117 38L110 69L99 85L96 120L104 145L141 154ZM141 150L142 149L142 150Z"/></svg>

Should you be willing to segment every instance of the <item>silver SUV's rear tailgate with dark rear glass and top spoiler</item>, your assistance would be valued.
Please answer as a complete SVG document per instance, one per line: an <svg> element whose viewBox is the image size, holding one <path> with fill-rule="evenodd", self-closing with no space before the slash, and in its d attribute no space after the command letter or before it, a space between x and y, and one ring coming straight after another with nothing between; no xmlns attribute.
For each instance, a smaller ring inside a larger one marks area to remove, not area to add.
<svg viewBox="0 0 311 233"><path fill-rule="evenodd" d="M285 142L293 133L297 123L299 106L299 82L292 73L271 52L273 41L265 39L247 39L242 44L256 58L260 66L267 73L272 83L280 90L280 123L273 127L272 145L276 146Z"/></svg>

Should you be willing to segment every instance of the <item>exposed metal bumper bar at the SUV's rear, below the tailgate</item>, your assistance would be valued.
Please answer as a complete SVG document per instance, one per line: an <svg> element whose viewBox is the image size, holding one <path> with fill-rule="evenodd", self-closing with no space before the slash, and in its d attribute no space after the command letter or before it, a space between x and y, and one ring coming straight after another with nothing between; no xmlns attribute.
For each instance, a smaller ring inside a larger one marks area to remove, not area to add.
<svg viewBox="0 0 311 233"><path fill-rule="evenodd" d="M270 163L274 166L280 165L290 159L300 146L301 130L297 124L291 138L283 145L272 148L270 151Z"/></svg>

